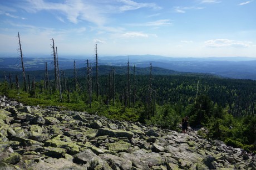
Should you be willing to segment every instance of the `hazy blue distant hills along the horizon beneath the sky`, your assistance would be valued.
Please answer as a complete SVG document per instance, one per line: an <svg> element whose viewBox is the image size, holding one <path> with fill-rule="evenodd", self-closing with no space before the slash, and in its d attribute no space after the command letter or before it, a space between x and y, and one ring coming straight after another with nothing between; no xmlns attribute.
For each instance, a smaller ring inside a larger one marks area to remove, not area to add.
<svg viewBox="0 0 256 170"><path fill-rule="evenodd" d="M94 58L88 58L95 65ZM76 58L76 68L86 66L87 58ZM256 80L256 58L247 57L225 57L225 58L171 58L159 55L129 55L129 56L100 56L99 65L126 66L129 60L130 66L138 68L150 66L169 69L173 71L189 73L207 73L235 79ZM71 57L59 58L60 69L72 69ZM53 69L53 58L24 58L27 71L43 70L47 62L48 69ZM18 58L0 58L0 70L20 70L21 65ZM168 72L168 71L167 71Z"/></svg>

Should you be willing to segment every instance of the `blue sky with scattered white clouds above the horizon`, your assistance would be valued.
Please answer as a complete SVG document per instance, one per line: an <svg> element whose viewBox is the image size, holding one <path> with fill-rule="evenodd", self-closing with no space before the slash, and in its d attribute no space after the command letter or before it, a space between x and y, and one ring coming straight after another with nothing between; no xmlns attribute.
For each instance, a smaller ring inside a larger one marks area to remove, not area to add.
<svg viewBox="0 0 256 170"><path fill-rule="evenodd" d="M0 0L0 53L256 57L256 0Z"/></svg>

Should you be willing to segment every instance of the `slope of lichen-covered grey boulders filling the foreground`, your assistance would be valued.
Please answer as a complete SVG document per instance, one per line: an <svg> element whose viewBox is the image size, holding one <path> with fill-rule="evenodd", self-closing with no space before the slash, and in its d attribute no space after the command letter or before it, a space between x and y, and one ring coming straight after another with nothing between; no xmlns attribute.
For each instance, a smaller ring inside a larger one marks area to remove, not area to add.
<svg viewBox="0 0 256 170"><path fill-rule="evenodd" d="M223 142L0 96L0 169L256 169Z"/></svg>

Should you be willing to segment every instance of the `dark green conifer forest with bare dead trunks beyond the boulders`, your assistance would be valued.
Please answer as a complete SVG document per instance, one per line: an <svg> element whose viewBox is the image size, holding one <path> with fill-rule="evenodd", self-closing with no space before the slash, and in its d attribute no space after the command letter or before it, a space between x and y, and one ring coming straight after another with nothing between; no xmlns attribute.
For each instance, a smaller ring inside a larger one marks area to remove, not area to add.
<svg viewBox="0 0 256 170"><path fill-rule="evenodd" d="M192 128L208 129L202 136L256 151L256 81L175 71L163 75L151 64L143 72L129 60L124 67L99 66L97 45L95 60L86 60L85 68L76 69L74 61L73 70L62 70L53 39L51 49L54 70L46 63L45 70L26 75L20 48L22 73L1 75L1 95L27 105L87 111L171 130L180 130L181 119L189 116Z"/></svg>

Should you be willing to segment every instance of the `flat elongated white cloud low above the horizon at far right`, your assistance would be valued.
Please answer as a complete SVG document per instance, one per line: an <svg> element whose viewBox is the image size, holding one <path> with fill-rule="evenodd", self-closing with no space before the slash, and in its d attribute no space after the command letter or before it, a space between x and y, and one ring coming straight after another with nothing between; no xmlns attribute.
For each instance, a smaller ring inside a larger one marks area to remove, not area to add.
<svg viewBox="0 0 256 170"><path fill-rule="evenodd" d="M242 42L237 40L230 40L230 39L211 39L207 40L205 43L206 47L239 47L239 48L246 48L250 47L252 42Z"/></svg>

